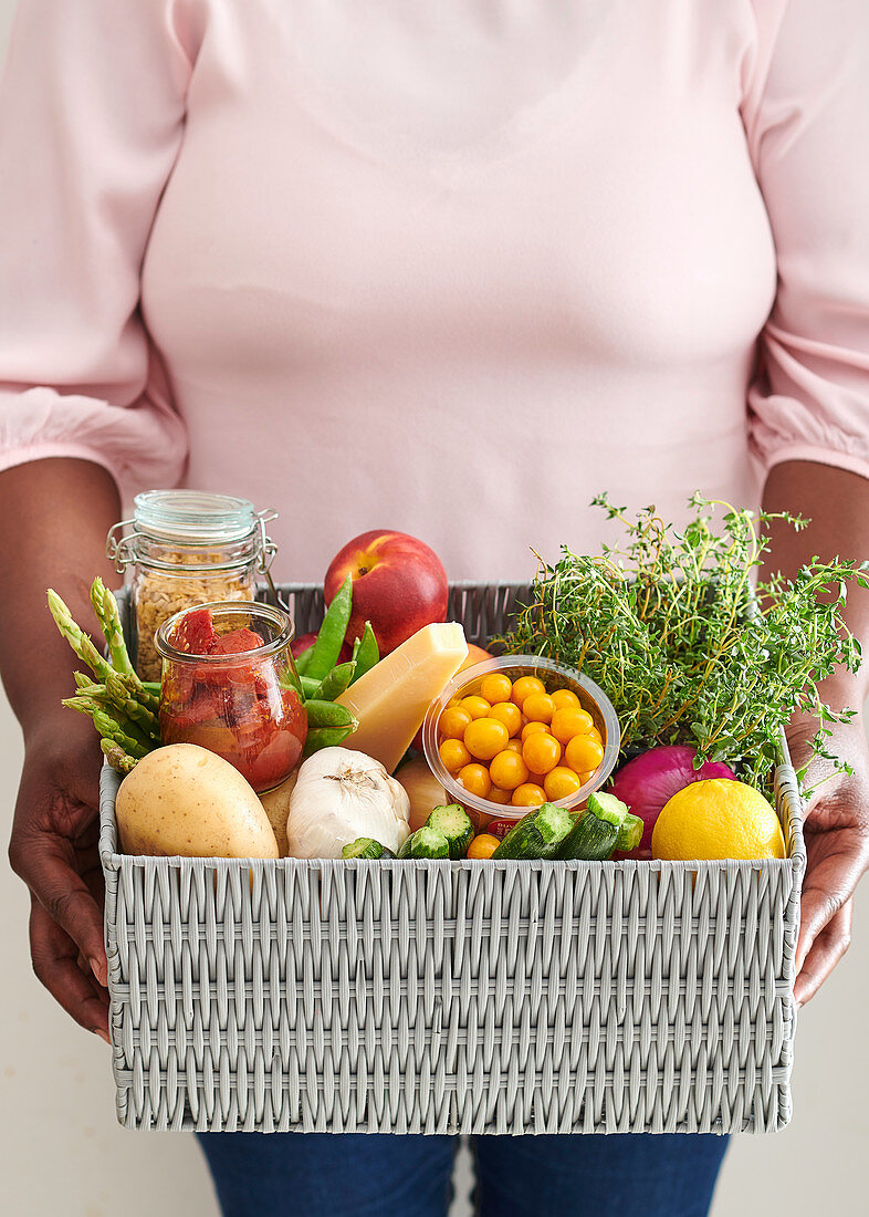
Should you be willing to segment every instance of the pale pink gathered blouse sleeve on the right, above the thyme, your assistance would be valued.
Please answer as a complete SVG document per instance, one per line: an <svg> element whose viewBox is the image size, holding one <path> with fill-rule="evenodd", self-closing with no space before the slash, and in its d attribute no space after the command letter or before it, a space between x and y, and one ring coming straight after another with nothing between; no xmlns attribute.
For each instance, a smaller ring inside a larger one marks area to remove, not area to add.
<svg viewBox="0 0 869 1217"><path fill-rule="evenodd" d="M749 393L754 453L869 477L869 2L752 0L743 107L775 303Z"/></svg>

